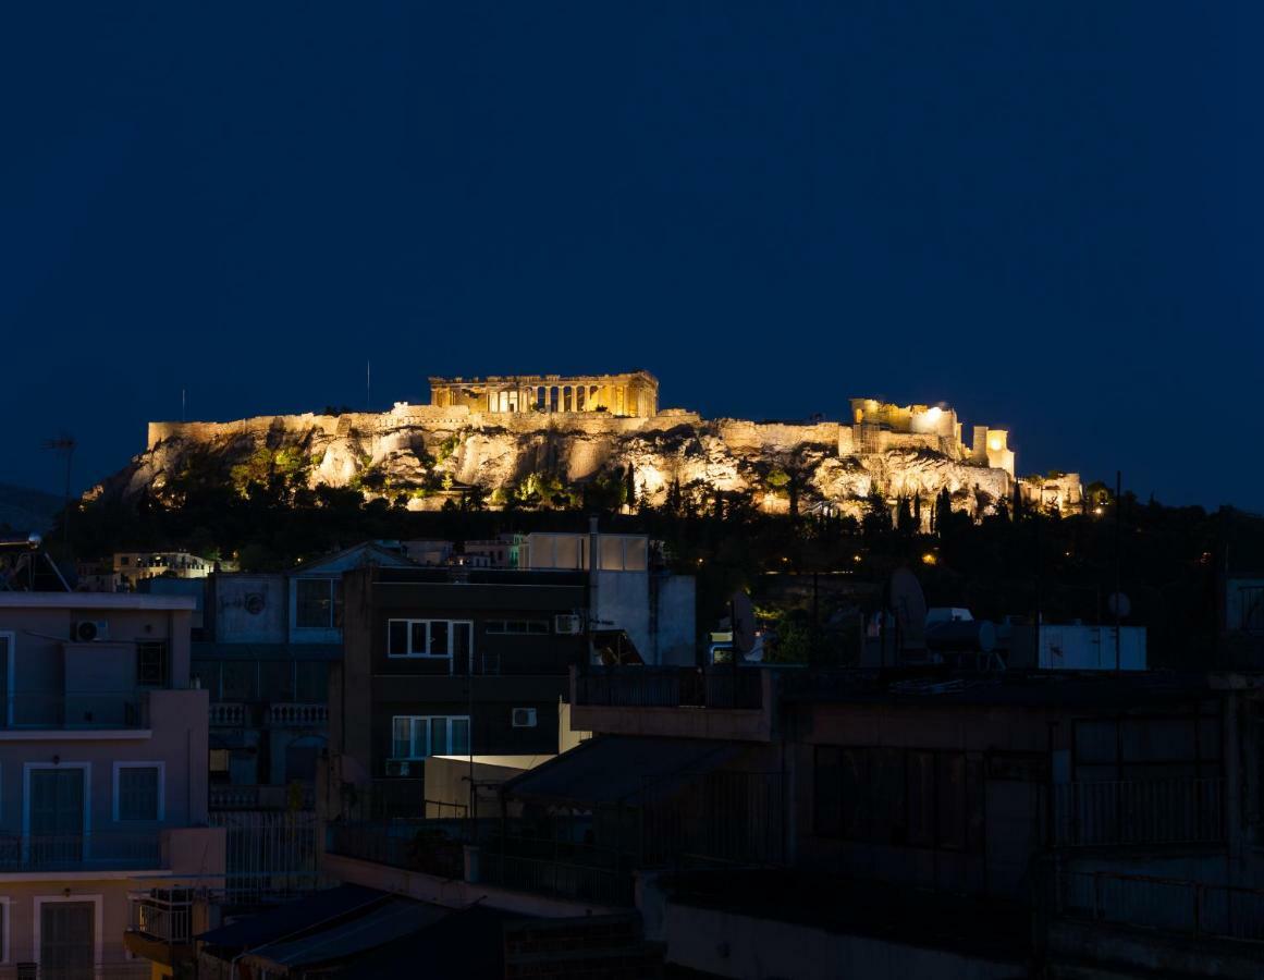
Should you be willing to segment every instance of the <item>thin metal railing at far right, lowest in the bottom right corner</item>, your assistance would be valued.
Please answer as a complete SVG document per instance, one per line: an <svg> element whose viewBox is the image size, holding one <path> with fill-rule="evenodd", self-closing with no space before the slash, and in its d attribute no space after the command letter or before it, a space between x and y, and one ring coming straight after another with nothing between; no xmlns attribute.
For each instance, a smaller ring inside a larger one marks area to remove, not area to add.
<svg viewBox="0 0 1264 980"><path fill-rule="evenodd" d="M1111 926L1264 942L1264 890L1114 871L1063 871L1058 912Z"/></svg>

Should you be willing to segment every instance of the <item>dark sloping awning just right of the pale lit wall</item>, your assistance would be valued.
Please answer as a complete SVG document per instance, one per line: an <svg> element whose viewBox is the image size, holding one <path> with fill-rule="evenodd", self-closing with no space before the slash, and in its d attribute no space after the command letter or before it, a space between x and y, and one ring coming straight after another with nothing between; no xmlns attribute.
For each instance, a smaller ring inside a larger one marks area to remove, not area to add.
<svg viewBox="0 0 1264 980"><path fill-rule="evenodd" d="M518 799L585 808L637 804L718 769L739 751L738 744L709 738L607 735L514 776L504 792Z"/></svg>

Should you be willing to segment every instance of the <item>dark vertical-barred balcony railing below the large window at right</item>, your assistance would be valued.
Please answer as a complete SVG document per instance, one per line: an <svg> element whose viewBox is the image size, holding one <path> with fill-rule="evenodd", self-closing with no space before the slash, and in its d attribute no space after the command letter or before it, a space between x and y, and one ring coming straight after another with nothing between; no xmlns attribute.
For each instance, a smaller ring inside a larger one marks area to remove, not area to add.
<svg viewBox="0 0 1264 980"><path fill-rule="evenodd" d="M1222 843L1225 780L1055 783L1053 817L1062 847Z"/></svg>

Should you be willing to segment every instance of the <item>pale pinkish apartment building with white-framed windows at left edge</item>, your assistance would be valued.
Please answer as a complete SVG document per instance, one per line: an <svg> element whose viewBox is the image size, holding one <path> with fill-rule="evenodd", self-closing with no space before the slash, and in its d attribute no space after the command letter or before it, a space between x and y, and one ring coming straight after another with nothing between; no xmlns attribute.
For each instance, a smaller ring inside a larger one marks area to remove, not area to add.
<svg viewBox="0 0 1264 980"><path fill-rule="evenodd" d="M148 976L124 945L137 894L224 873L192 608L0 593L0 964L16 975Z"/></svg>

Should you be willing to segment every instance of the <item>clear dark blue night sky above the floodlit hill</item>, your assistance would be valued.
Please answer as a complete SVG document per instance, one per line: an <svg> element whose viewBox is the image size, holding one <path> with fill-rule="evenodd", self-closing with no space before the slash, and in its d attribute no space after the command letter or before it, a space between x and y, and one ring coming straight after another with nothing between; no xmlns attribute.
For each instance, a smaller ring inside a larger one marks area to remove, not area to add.
<svg viewBox="0 0 1264 980"><path fill-rule="evenodd" d="M9 5L0 481L645 367L1264 510L1264 5ZM38 9L35 9L38 8Z"/></svg>

